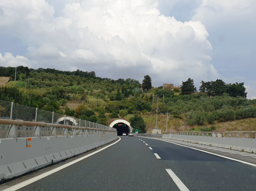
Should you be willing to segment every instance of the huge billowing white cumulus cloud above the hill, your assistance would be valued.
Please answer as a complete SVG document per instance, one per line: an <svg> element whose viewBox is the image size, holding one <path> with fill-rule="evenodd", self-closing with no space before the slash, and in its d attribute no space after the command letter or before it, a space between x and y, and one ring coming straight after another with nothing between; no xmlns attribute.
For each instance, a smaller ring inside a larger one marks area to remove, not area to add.
<svg viewBox="0 0 256 191"><path fill-rule="evenodd" d="M5 53L0 63L139 80L149 74L177 85L188 77L217 79L206 27L161 15L157 7L148 0L69 1L55 16L44 0L3 0L1 33L18 37L28 49L21 57Z"/></svg>

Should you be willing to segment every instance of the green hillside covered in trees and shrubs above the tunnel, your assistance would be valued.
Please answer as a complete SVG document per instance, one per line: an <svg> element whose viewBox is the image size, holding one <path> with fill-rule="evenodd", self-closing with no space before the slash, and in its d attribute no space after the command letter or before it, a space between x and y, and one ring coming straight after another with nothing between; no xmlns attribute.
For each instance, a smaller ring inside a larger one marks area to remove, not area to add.
<svg viewBox="0 0 256 191"><path fill-rule="evenodd" d="M8 75L13 69L0 67L1 75ZM183 89L189 81L192 80L184 82ZM243 83L202 81L201 92L197 93L182 93L177 89L174 92L162 86L141 91L140 87L138 80L101 78L94 71L17 67L16 81L12 77L12 81L0 89L0 99L102 124L110 124L115 118L129 121L139 115L146 123L147 132L156 127L156 110L157 127L163 130L166 129L165 113L170 113L173 120L168 120L168 132L185 130L182 119L187 127L197 130L254 128L256 100L246 99Z"/></svg>

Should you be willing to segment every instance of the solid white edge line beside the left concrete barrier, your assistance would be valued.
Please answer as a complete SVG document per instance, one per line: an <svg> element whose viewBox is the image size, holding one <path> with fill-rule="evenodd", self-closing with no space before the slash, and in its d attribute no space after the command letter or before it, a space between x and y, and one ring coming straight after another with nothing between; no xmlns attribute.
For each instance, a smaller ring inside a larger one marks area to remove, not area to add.
<svg viewBox="0 0 256 191"><path fill-rule="evenodd" d="M95 151L95 152L93 152L93 153L88 154L87 156L84 156L84 157L78 158L78 159L76 159L76 160L73 160L73 161L70 162L70 163L64 164L64 165L62 165L62 166L60 166L60 167L58 167L58 168L56 168L56 169L50 170L50 171L48 171L48 172L45 172L45 173L42 174L42 175L38 175L38 176L33 177L33 178L29 179L29 180L26 180L26 181L24 181L24 182L21 182L21 183L19 183L19 184L16 184L16 185L12 186L12 187L9 187L9 188L7 188L7 189L4 189L3 191L18 190L18 189L20 189L20 188L22 188L22 187L25 187L25 186L27 186L27 185L33 183L33 182L36 182L36 181L38 181L38 180L40 180L40 179L42 179L42 178L44 178L44 177L47 177L47 176L49 176L49 175L52 175L52 174L54 174L54 172L58 172L58 171L60 171L60 170L62 170L62 169L65 169L67 166L70 166L70 165L72 165L72 164L75 164L75 163L77 163L77 162L79 162L79 161L81 161L81 160L83 160L83 159L86 159L86 158L92 156L93 154L96 154L96 153L98 153L98 152L100 152L100 151L103 151L103 150L106 149L107 147L110 147L110 146L112 146L112 145L115 145L117 142L119 142L119 141L121 140L121 138L120 138L119 136L118 136L118 138L119 138L118 141L116 141L116 142L112 143L111 145L108 145L108 146L106 146L106 147L104 147L104 148L101 148L101 149L98 150L98 151Z"/></svg>

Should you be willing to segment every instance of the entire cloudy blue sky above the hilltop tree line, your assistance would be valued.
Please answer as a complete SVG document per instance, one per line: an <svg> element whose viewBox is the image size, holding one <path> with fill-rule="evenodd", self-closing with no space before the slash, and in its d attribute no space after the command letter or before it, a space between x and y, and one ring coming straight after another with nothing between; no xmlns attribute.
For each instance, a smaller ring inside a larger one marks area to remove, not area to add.
<svg viewBox="0 0 256 191"><path fill-rule="evenodd" d="M252 0L0 2L0 65L244 82L256 98Z"/></svg>

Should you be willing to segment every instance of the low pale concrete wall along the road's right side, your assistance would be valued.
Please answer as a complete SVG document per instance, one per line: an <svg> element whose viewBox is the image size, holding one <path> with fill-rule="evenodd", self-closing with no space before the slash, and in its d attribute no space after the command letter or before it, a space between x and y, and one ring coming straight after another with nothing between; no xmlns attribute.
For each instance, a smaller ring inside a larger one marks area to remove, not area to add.
<svg viewBox="0 0 256 191"><path fill-rule="evenodd" d="M164 134L162 138L256 153L256 139L173 134Z"/></svg>

